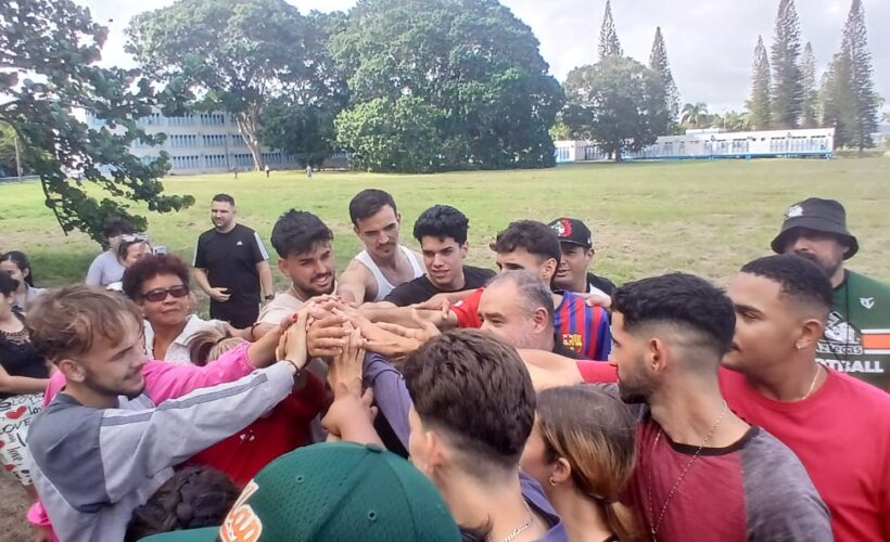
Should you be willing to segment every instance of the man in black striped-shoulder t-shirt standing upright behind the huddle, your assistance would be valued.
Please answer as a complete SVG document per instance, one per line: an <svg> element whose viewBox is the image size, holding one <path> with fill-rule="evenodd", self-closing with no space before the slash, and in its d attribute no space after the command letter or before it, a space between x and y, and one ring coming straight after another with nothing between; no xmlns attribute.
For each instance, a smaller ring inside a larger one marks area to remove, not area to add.
<svg viewBox="0 0 890 542"><path fill-rule="evenodd" d="M275 297L275 291L266 247L255 231L237 222L237 217L232 196L213 197L214 228L198 237L194 279L211 296L211 318L244 328L259 314L260 284L266 300Z"/></svg>

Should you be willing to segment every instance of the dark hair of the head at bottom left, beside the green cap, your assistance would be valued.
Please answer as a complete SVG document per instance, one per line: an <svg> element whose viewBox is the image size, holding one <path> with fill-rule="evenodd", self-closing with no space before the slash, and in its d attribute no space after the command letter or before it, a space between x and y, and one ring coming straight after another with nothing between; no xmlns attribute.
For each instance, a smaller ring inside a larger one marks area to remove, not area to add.
<svg viewBox="0 0 890 542"><path fill-rule="evenodd" d="M162 532L221 525L240 493L219 470L186 467L132 512L124 540L136 542Z"/></svg>

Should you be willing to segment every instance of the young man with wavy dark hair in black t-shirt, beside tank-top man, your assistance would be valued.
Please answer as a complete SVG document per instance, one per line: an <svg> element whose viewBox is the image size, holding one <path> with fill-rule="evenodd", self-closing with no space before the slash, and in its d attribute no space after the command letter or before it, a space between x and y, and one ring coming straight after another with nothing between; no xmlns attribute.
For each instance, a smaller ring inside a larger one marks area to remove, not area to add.
<svg viewBox="0 0 890 542"><path fill-rule="evenodd" d="M427 273L399 285L383 300L396 307L423 302L436 294L473 291L495 275L490 269L465 266L469 245L467 217L447 205L424 210L415 222Z"/></svg>

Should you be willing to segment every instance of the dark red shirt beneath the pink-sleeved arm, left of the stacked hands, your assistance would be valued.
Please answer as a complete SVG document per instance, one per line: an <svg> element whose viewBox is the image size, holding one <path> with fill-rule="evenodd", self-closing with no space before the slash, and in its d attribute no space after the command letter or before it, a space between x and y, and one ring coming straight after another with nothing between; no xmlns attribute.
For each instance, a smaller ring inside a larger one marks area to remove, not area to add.
<svg viewBox="0 0 890 542"><path fill-rule="evenodd" d="M263 417L231 437L193 455L185 465L205 465L245 486L272 460L312 443L309 424L325 404L325 384L306 376L306 387L291 393ZM200 429L201 422L195 421Z"/></svg>

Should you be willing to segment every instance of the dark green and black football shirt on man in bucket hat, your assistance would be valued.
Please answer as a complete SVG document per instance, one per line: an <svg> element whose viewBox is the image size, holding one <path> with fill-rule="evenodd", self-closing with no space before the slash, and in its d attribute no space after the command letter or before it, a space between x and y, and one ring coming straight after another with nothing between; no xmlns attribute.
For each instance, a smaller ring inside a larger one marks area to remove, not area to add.
<svg viewBox="0 0 890 542"><path fill-rule="evenodd" d="M816 361L890 391L890 285L846 272Z"/></svg>

